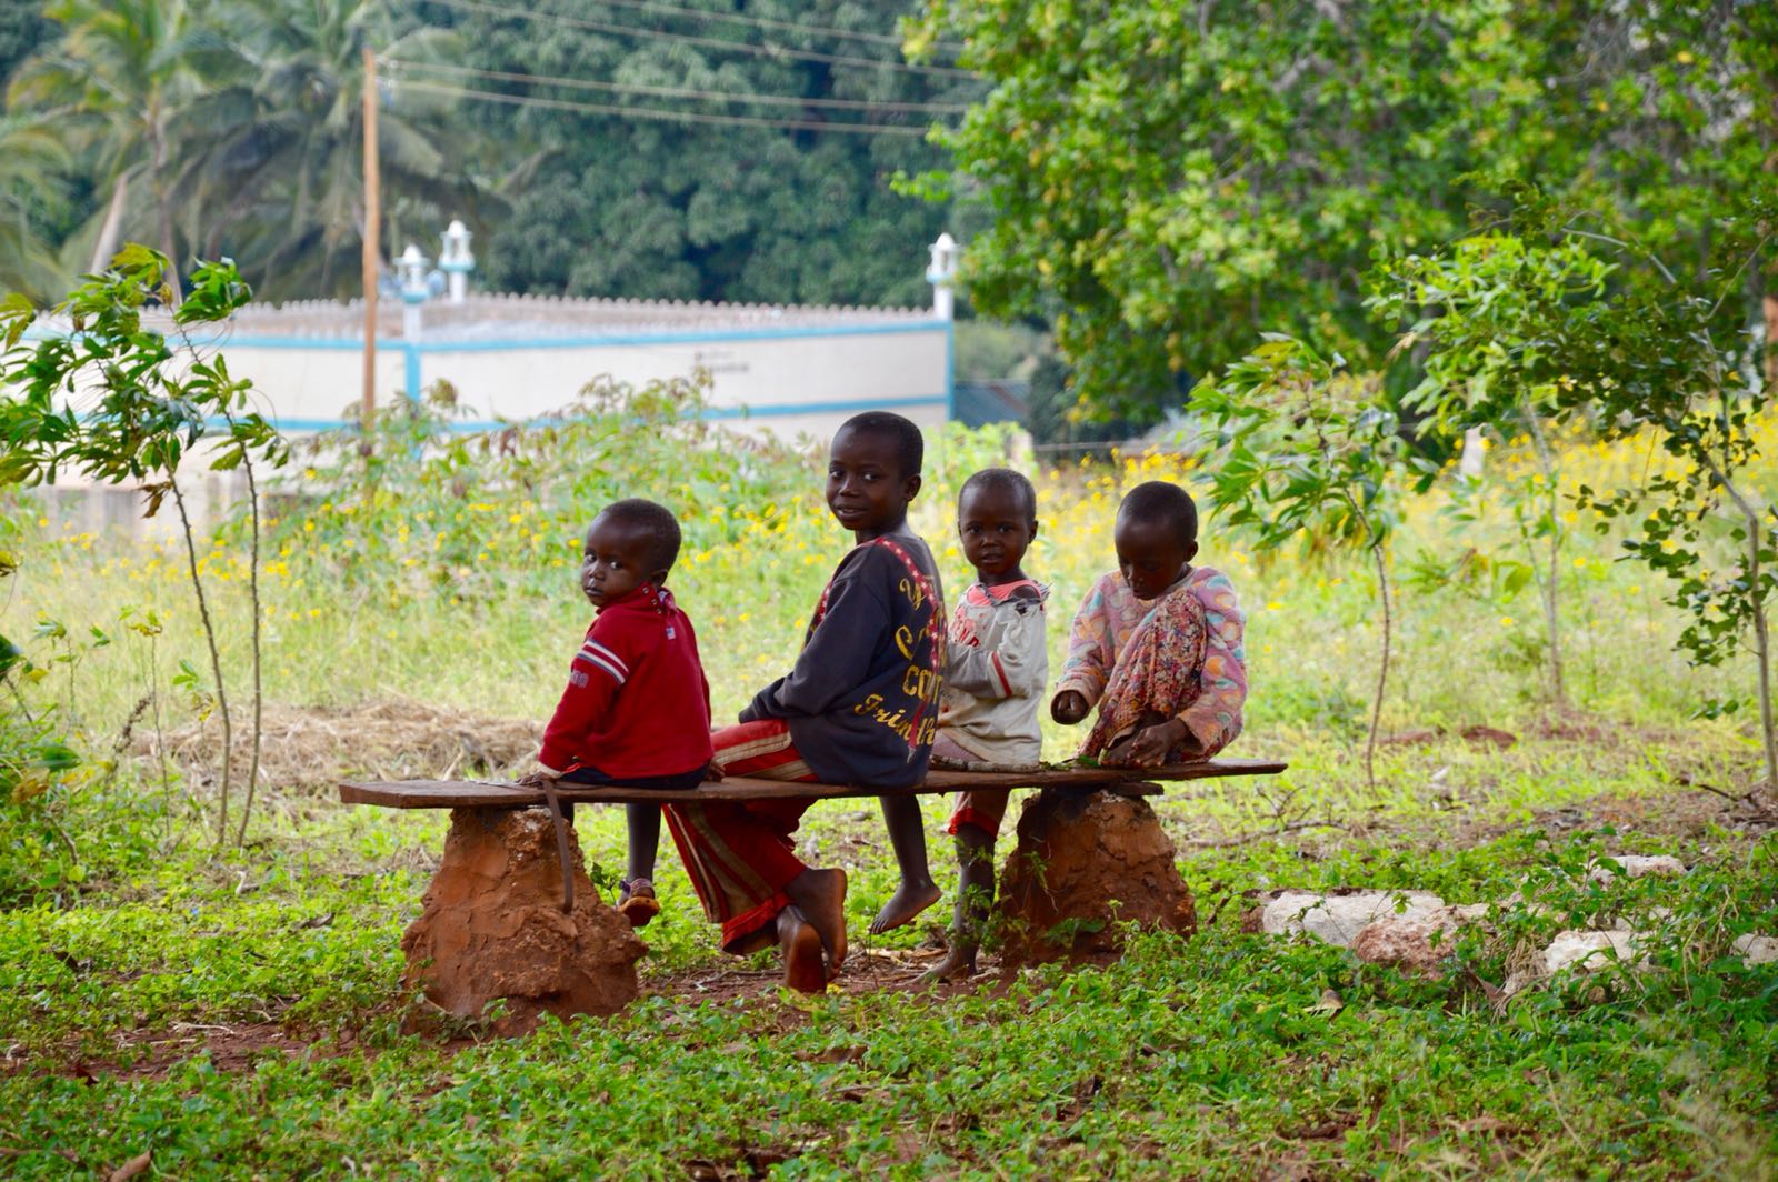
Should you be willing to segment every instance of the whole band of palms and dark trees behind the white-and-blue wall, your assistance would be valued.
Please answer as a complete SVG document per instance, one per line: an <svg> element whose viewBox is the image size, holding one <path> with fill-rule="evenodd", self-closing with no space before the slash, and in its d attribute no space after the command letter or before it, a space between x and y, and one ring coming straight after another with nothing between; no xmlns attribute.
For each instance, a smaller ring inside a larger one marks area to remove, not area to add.
<svg viewBox="0 0 1778 1182"><path fill-rule="evenodd" d="M693 7L720 18L725 5ZM910 11L855 0L772 0L745 9L768 21L891 41L896 18ZM761 32L578 0L7 5L0 14L5 117L53 117L69 156L32 176L0 171L0 208L12 206L27 231L21 242L0 236L0 281L46 299L73 274L96 270L92 260L110 254L98 240L123 180L112 251L133 238L181 265L194 256L231 256L268 299L356 293L364 219L359 55L373 48L382 60L382 240L391 252L407 240L436 252L444 222L462 217L478 233L482 281L500 290L925 302L923 247L946 212L898 196L889 181L898 171L942 160L919 135L935 116L830 110L800 107L798 100L958 103L980 94L980 84L724 48L761 41L857 62L900 62L894 44ZM791 103L610 94L461 69L761 92ZM512 107L428 85L544 101L862 121L912 135L699 126ZM53 267L21 268L25 258L48 258Z"/></svg>

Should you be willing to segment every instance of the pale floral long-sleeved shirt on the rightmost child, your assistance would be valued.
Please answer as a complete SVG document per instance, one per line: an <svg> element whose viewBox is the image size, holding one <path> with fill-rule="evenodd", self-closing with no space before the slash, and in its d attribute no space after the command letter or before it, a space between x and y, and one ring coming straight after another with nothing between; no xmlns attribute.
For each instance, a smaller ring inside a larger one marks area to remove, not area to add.
<svg viewBox="0 0 1778 1182"><path fill-rule="evenodd" d="M1204 688L1198 700L1179 716L1207 752L1218 752L1241 734L1241 706L1246 702L1246 652L1241 633L1246 617L1236 599L1229 576L1213 567L1193 567L1186 576L1186 590L1204 604L1209 626L1209 643L1200 674ZM1095 706L1111 679L1124 645L1154 610L1131 594L1117 571L1101 576L1074 613L1069 633L1069 659L1061 667L1056 693L1074 690Z"/></svg>

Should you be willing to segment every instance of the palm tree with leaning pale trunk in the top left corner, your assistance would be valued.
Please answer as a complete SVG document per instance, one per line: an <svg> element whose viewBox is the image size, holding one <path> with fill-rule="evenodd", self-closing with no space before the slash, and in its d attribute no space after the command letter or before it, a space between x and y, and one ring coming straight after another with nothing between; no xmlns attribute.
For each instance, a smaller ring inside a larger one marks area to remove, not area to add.
<svg viewBox="0 0 1778 1182"><path fill-rule="evenodd" d="M94 180L110 190L92 242L98 270L124 233L146 220L153 240L178 260L171 181L172 126L201 103L206 71L229 66L231 50L188 0L57 0L44 14L62 39L12 78L14 107L57 119L91 153ZM132 190L146 187L146 210ZM144 235L148 236L148 235Z"/></svg>

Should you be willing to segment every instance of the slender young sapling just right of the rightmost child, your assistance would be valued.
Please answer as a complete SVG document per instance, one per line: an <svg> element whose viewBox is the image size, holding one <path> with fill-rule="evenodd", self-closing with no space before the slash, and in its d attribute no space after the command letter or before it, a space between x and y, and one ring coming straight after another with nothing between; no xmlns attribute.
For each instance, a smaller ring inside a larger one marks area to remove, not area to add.
<svg viewBox="0 0 1778 1182"><path fill-rule="evenodd" d="M1394 496L1410 469L1382 382L1344 371L1294 338L1266 343L1193 391L1214 425L1202 437L1213 512L1264 549L1298 539L1366 555L1376 571L1380 656L1364 773L1376 789L1376 732L1389 690ZM1430 471L1421 466L1422 483Z"/></svg>

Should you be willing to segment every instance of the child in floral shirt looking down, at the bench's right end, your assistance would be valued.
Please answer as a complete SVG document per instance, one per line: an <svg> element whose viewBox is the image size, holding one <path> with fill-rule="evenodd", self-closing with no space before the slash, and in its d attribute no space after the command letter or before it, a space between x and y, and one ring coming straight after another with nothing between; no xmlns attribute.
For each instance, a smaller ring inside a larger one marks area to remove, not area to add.
<svg viewBox="0 0 1778 1182"><path fill-rule="evenodd" d="M1118 569L1074 615L1051 716L1099 706L1081 757L1149 768L1209 759L1241 734L1245 619L1229 578L1193 567L1198 510L1179 485L1136 485L1118 505Z"/></svg>

